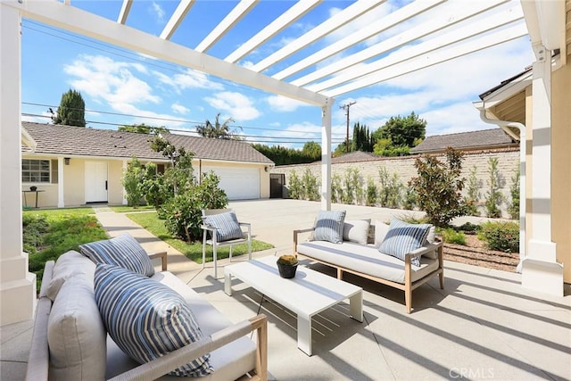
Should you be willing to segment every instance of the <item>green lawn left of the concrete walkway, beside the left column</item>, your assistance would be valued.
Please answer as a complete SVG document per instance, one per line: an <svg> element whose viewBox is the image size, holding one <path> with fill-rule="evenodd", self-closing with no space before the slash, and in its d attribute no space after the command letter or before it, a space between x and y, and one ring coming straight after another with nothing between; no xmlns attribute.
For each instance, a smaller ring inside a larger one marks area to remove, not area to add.
<svg viewBox="0 0 571 381"><path fill-rule="evenodd" d="M79 250L79 244L107 238L92 208L22 212L23 247L29 253L29 271L37 275L37 290L46 261Z"/></svg>

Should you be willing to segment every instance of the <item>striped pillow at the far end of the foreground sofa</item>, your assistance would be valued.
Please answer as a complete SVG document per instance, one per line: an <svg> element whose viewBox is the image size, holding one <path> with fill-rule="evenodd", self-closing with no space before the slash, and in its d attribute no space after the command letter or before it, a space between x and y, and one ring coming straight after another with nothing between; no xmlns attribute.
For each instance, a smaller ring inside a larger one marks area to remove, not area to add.
<svg viewBox="0 0 571 381"><path fill-rule="evenodd" d="M83 255L96 263L107 263L130 269L138 274L152 277L153 262L133 236L124 234L112 239L79 245Z"/></svg>

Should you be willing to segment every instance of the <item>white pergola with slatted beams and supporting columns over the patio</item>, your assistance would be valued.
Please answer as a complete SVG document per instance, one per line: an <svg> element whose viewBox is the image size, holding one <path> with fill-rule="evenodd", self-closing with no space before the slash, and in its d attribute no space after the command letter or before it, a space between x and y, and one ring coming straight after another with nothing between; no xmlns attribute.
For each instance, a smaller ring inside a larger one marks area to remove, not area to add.
<svg viewBox="0 0 571 381"><path fill-rule="evenodd" d="M215 25L197 46L171 42L185 17L193 12L194 0L181 0L159 36L126 25L133 0L124 0L115 20L75 7L70 0L8 0L0 7L0 46L2 83L0 98L1 193L0 193L0 261L2 261L2 324L30 319L36 298L34 275L21 244L21 18L92 37L103 42L147 54L157 59L200 70L222 79L284 95L320 107L322 118L322 194L323 209L331 204L331 111L336 96L370 87L388 79L450 61L463 55L497 46L507 41L531 37L536 56L534 67L535 128L550 128L551 53L559 52L565 60L565 2L504 0L461 2L446 0L413 1L388 12L385 17L318 51L308 47L335 30L379 7L384 0L358 0L335 16L305 32L286 46L269 54L252 66L240 61L255 49L267 44L281 31L311 12L322 0L301 0L268 25L244 39L226 57L209 55L221 37L259 5L256 0L236 2L231 12ZM459 6L460 4L460 6ZM402 25L408 26L402 28ZM384 39L366 46L369 37L390 32ZM310 53L308 53L310 52ZM336 54L343 58L328 60ZM302 57L284 70L279 62ZM536 73L537 72L537 73ZM537 83L535 82L537 81ZM41 84L38 84L41 86ZM535 91L535 87L544 91ZM548 134L549 136L549 134ZM550 141L543 139L534 151L534 183L542 184L539 197L550 199ZM62 165L62 163L60 163ZM62 170L60 171L62 173ZM545 186L547 185L547 186ZM534 193L534 197L535 197ZM549 213L537 213L541 230L536 241L550 243ZM541 244L540 244L541 245Z"/></svg>

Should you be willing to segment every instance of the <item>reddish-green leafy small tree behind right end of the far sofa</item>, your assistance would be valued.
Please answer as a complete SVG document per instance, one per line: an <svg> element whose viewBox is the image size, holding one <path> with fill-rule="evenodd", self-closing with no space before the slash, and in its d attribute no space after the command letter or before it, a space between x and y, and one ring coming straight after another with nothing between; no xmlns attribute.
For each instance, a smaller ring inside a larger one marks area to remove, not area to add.
<svg viewBox="0 0 571 381"><path fill-rule="evenodd" d="M466 215L461 195L464 178L460 178L463 155L449 147L446 162L425 155L414 163L418 177L411 178L409 186L418 195L418 208L436 226L446 227L451 219Z"/></svg>

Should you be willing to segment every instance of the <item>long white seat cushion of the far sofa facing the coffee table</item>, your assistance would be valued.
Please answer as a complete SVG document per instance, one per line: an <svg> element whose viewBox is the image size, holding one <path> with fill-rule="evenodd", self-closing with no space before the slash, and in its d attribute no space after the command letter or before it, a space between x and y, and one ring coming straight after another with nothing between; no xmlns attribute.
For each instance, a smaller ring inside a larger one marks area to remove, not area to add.
<svg viewBox="0 0 571 381"><path fill-rule="evenodd" d="M307 254L318 261L325 261L344 269L404 284L404 261L392 255L379 253L374 245L313 241L298 244L297 253ZM411 266L411 280L415 282L436 269L438 261L423 256L420 259L420 266Z"/></svg>

